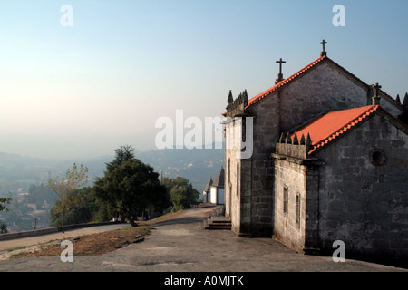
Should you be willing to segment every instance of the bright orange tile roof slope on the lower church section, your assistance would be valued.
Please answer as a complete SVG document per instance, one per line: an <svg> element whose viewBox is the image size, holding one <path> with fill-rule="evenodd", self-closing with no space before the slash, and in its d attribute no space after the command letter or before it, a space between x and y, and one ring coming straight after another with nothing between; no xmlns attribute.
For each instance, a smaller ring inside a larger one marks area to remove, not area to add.
<svg viewBox="0 0 408 290"><path fill-rule="evenodd" d="M380 106L378 105L374 107L370 105L342 111L331 111L301 127L296 133L292 134L291 139L293 140L295 134L297 140L301 139L302 134L306 138L308 133L313 146L313 150L310 150L309 154L313 153L318 148L343 135L356 124L364 121L364 119L379 108Z"/></svg>

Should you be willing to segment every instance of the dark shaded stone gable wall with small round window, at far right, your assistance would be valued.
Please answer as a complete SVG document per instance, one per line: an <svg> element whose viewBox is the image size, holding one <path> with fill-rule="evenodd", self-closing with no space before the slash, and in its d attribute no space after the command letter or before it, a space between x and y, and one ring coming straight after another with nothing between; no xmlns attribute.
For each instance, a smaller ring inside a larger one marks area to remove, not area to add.
<svg viewBox="0 0 408 290"><path fill-rule="evenodd" d="M408 136L377 113L316 152L319 243L346 256L408 259Z"/></svg>

